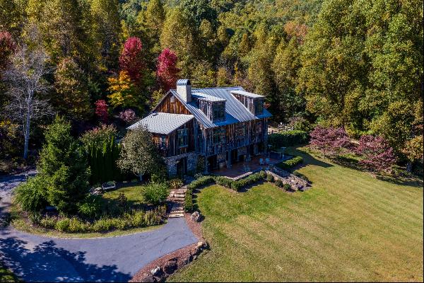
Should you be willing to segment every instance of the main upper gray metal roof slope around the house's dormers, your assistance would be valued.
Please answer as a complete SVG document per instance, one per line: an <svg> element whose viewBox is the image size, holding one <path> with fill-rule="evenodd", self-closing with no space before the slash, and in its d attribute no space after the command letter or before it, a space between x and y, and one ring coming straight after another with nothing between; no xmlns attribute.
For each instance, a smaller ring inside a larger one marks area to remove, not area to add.
<svg viewBox="0 0 424 283"><path fill-rule="evenodd" d="M216 98L225 99L225 121L223 122L212 122L206 117L204 112L202 112L196 105L195 102L187 103L182 99L181 96L177 93L175 89L171 89L170 92L189 110L189 112L194 115L196 120L198 120L201 125L206 128L220 127L223 125L230 125L237 122L247 122L251 120L261 119L265 117L271 117L271 113L264 109L263 114L253 115L245 105L243 105L235 96L233 96L230 91L244 91L241 86L232 86L225 88L193 88L193 93L203 93L207 96L214 96ZM261 96L263 97L263 96Z"/></svg>

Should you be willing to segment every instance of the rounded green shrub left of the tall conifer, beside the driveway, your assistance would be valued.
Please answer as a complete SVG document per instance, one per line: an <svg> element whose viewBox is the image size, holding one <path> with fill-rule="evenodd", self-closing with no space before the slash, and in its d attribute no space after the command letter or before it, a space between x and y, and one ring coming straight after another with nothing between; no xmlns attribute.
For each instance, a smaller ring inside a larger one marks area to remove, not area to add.
<svg viewBox="0 0 424 283"><path fill-rule="evenodd" d="M29 178L28 182L20 184L16 190L16 202L30 214L36 214L47 205L47 189L45 181L36 176Z"/></svg>

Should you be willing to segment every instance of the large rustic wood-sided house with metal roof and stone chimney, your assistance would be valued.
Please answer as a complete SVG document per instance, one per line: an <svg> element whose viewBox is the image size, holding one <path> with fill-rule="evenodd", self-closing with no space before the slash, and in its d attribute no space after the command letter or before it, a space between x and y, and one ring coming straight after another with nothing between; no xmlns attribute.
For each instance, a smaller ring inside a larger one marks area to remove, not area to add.
<svg viewBox="0 0 424 283"><path fill-rule="evenodd" d="M152 112L129 129L146 127L167 163L169 175L231 168L266 151L264 96L240 86L193 88L177 81Z"/></svg>

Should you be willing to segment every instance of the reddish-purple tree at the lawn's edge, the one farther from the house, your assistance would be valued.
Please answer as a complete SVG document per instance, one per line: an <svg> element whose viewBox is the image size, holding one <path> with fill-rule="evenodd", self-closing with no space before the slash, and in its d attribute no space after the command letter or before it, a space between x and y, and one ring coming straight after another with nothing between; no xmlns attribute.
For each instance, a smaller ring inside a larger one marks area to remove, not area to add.
<svg viewBox="0 0 424 283"><path fill-rule="evenodd" d="M382 137L363 135L355 152L363 156L360 163L373 172L390 171L396 163L393 149Z"/></svg>

